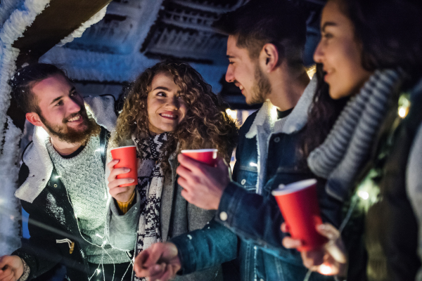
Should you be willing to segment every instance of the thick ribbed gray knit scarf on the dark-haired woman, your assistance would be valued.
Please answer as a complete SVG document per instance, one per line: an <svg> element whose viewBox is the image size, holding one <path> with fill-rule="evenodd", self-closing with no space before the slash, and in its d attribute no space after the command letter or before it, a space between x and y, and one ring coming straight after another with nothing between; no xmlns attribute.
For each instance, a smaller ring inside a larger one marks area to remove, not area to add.
<svg viewBox="0 0 422 281"><path fill-rule="evenodd" d="M322 145L307 159L316 176L327 179L326 191L343 201L369 157L373 140L402 82L399 70L377 70L345 106Z"/></svg>

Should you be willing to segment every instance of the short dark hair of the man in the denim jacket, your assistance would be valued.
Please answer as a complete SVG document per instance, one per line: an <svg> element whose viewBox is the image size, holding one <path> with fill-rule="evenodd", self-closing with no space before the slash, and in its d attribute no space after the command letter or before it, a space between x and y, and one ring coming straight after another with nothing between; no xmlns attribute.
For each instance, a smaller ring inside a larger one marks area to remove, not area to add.
<svg viewBox="0 0 422 281"><path fill-rule="evenodd" d="M236 36L236 46L247 48L250 58L257 58L262 46L271 43L288 65L303 63L306 19L292 1L251 0L236 11L222 15L213 27L223 34Z"/></svg>

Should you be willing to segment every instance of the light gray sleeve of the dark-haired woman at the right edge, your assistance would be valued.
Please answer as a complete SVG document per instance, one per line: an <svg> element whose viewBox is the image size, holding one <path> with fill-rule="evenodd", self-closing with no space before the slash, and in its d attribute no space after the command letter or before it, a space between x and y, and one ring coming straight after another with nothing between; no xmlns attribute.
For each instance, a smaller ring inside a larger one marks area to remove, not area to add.
<svg viewBox="0 0 422 281"><path fill-rule="evenodd" d="M407 163L407 196L414 209L418 220L418 254L422 259L422 124L419 125L418 132L411 146L409 160ZM418 272L416 280L422 280L422 269Z"/></svg>

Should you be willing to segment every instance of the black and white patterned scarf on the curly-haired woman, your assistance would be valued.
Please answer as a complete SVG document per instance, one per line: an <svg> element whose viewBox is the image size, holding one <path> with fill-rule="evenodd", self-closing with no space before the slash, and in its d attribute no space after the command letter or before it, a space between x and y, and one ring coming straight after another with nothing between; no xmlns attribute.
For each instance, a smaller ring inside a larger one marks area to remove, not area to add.
<svg viewBox="0 0 422 281"><path fill-rule="evenodd" d="M137 147L137 157L141 159L138 168L138 185L136 185L141 195L141 215L136 242L137 255L143 249L148 249L152 244L161 241L160 204L164 173L160 164L162 157L165 156L162 148L169 140L169 133L161 133L142 140L132 139ZM135 280L146 279L135 277Z"/></svg>

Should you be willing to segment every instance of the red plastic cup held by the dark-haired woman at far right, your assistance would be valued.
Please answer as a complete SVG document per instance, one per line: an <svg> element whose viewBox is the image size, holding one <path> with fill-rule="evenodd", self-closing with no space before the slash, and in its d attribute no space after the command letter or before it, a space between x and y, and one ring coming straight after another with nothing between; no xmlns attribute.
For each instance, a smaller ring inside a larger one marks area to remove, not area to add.
<svg viewBox="0 0 422 281"><path fill-rule="evenodd" d="M315 229L322 223L315 179L279 185L271 194L276 197L291 237L302 241L299 251L319 249L327 242Z"/></svg>

